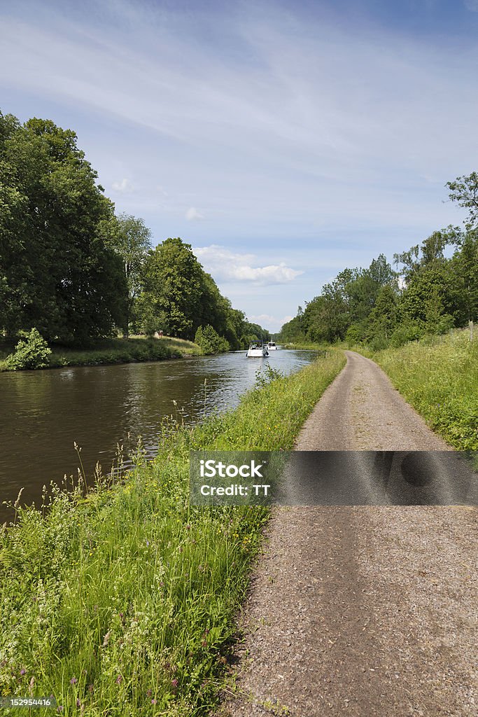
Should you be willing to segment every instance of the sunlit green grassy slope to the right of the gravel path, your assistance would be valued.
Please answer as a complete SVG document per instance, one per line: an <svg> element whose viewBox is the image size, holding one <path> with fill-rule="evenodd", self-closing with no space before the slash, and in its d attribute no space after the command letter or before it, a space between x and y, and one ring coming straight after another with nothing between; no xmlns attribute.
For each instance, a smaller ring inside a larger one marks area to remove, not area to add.
<svg viewBox="0 0 478 717"><path fill-rule="evenodd" d="M478 341L467 331L373 356L429 426L460 450L478 450Z"/></svg>

